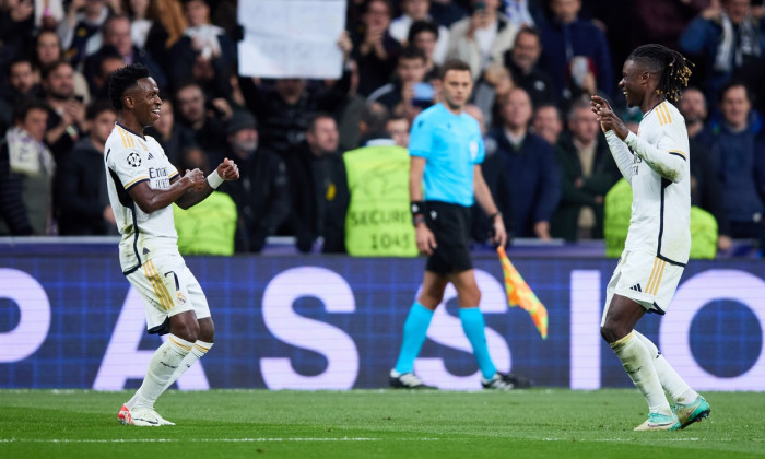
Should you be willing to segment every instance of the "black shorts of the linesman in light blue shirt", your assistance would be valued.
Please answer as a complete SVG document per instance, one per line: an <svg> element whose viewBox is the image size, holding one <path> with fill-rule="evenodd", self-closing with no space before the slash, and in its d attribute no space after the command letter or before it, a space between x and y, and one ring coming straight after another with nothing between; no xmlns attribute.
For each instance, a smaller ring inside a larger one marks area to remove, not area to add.
<svg viewBox="0 0 765 459"><path fill-rule="evenodd" d="M438 245L427 258L425 269L440 275L473 269L468 246L470 208L449 202L426 201L425 210L425 222Z"/></svg>

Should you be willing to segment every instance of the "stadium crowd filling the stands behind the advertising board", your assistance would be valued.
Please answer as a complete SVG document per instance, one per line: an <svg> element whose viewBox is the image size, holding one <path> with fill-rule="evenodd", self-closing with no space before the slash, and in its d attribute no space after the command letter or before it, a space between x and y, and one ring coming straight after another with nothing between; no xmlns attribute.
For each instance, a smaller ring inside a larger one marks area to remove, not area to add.
<svg viewBox="0 0 765 459"><path fill-rule="evenodd" d="M106 81L140 62L162 91L151 134L170 162L205 173L223 157L239 164L242 179L209 210L211 240L231 245L220 237L231 233L233 250L258 252L289 235L304 252L317 240L344 252L354 195L344 152L405 148L414 117L439 102L438 66L457 58L474 78L468 111L484 129L484 176L508 233L603 238L609 202L624 201L607 200L621 174L589 95L636 129L640 114L616 90L621 64L635 46L659 43L695 63L679 109L699 227L719 234L713 256L733 239L765 247L761 3L349 0L334 81L238 75L236 3L0 0L0 235L117 234L103 163L116 119ZM474 238L487 239L485 217L474 220Z"/></svg>

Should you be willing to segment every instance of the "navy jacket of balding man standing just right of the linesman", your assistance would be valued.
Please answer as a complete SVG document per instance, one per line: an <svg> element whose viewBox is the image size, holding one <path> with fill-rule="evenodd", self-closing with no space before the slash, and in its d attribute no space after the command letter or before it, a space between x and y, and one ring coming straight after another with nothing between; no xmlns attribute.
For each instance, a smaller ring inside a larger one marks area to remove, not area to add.
<svg viewBox="0 0 765 459"><path fill-rule="evenodd" d="M550 222L561 197L561 178L555 152L544 139L527 132L516 151L502 128L490 131L505 162L511 192L514 237L537 237L534 223Z"/></svg>

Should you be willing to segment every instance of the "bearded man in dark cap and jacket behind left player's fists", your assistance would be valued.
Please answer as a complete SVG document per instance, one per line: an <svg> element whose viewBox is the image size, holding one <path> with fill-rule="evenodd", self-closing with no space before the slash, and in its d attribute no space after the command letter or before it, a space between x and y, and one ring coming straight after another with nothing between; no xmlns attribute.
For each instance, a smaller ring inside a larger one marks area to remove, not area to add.
<svg viewBox="0 0 765 459"><path fill-rule="evenodd" d="M239 165L239 180L225 184L238 213L235 250L259 252L290 213L290 187L284 162L258 145L255 117L237 110L226 125L225 156Z"/></svg>

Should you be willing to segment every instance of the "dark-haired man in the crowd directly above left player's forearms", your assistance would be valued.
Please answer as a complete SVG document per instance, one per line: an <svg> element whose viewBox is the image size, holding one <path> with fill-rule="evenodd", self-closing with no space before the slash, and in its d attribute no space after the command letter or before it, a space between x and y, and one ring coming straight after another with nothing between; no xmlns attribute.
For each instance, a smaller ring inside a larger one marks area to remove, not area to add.
<svg viewBox="0 0 765 459"><path fill-rule="evenodd" d="M196 143L208 156L217 158L216 152L226 144L223 120L232 114L226 101L214 99L208 103L202 86L187 83L175 93L175 105L179 121L193 132ZM214 163L211 161L211 164Z"/></svg>

